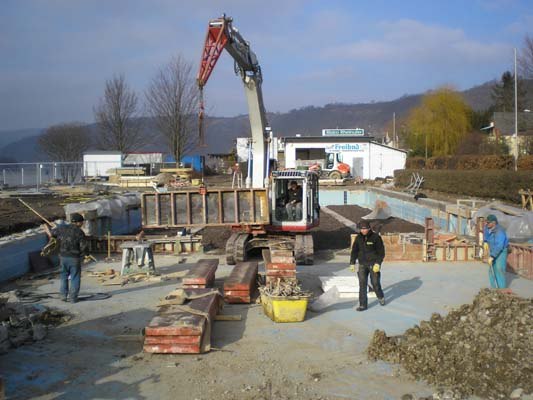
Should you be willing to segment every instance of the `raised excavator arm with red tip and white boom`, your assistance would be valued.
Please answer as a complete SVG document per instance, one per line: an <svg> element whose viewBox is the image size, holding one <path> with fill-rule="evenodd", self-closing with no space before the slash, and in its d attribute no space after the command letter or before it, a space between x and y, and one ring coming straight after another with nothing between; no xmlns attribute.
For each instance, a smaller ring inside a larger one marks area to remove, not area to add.
<svg viewBox="0 0 533 400"><path fill-rule="evenodd" d="M267 182L267 142L266 112L263 104L261 84L263 77L261 67L255 53L250 49L250 44L244 40L239 31L233 27L232 18L225 15L211 20L207 29L200 70L198 71L197 83L200 88L200 141L203 143L203 118L204 101L203 87L207 83L215 65L222 54L226 51L235 61L235 72L240 75L244 83L244 90L248 102L250 126L252 132L252 177L246 179L247 187L262 188Z"/></svg>

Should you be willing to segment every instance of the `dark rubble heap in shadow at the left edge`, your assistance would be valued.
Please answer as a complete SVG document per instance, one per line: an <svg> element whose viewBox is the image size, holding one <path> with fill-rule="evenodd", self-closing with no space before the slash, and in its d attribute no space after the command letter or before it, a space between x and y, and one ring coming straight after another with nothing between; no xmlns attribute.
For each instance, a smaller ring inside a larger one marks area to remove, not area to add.
<svg viewBox="0 0 533 400"><path fill-rule="evenodd" d="M0 354L11 347L42 340L49 326L70 320L70 316L41 305L11 301L15 296L0 297Z"/></svg>

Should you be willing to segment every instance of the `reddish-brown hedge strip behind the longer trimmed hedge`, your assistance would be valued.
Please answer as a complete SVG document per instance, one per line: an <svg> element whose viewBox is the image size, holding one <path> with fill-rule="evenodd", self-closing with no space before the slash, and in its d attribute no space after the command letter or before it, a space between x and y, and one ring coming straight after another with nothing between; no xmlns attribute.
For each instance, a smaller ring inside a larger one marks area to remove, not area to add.
<svg viewBox="0 0 533 400"><path fill-rule="evenodd" d="M430 157L427 161L423 157L410 157L405 163L407 169L460 169L460 170L500 170L514 169L513 156L442 156ZM521 156L518 159L519 170L533 170L533 156Z"/></svg>

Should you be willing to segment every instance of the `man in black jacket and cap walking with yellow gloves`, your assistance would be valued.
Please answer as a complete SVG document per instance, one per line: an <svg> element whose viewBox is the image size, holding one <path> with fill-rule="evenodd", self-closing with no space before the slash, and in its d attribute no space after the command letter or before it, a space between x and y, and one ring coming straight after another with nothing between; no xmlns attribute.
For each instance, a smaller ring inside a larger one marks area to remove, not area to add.
<svg viewBox="0 0 533 400"><path fill-rule="evenodd" d="M385 305L385 296L381 289L381 263L385 258L385 246L378 233L370 229L367 221L359 222L361 233L355 238L350 255L350 269L355 272L355 260L359 260L359 307L357 311L365 311L368 306L367 286L368 275L378 297L379 304Z"/></svg>

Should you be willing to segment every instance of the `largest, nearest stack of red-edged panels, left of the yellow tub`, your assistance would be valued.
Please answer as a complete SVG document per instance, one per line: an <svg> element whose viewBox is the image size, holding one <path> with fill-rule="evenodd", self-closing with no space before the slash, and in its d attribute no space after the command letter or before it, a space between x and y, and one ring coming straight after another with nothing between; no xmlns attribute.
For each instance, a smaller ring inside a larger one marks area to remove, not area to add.
<svg viewBox="0 0 533 400"><path fill-rule="evenodd" d="M213 292L213 289L190 289L188 296ZM184 305L166 305L145 329L144 351L165 354L199 354L211 347L213 321L222 307L219 293L190 300Z"/></svg>

